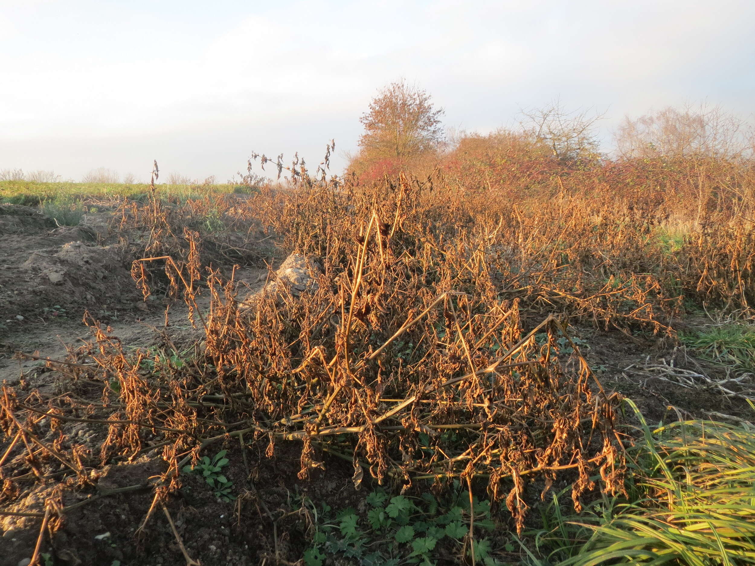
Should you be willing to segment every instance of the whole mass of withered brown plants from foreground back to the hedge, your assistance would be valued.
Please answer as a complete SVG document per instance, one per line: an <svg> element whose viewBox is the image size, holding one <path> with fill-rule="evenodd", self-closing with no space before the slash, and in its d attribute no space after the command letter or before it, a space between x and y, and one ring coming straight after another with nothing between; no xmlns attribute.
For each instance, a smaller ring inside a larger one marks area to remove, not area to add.
<svg viewBox="0 0 755 566"><path fill-rule="evenodd" d="M245 201L208 197L175 209L153 195L148 205L123 205L121 229L149 229L137 284L145 297L156 281L183 294L202 337L176 363L124 349L89 318L95 340L48 364L96 384L100 398L6 387L0 424L12 441L0 464L23 448L37 481L57 460L73 488L118 457L159 448L165 472L130 488L153 488L154 509L209 444L238 439L274 457L276 445L293 441L303 479L327 453L353 464L357 486L365 472L405 486L483 480L520 531L531 487L544 495L569 478L577 508L588 491L623 490L618 396L591 374L570 321L630 340L636 331L673 340L684 294L738 308L752 301L753 231L741 207L720 223L724 212L710 211L684 251L669 252L656 241L669 217L658 203L607 205L561 185L547 206L492 205L437 178L402 174L365 187L324 171L310 177L303 163L289 171L297 171L293 189ZM186 217L213 217L231 232L254 219L324 272L309 293L278 288L248 309L233 274L203 267L207 230ZM100 454L63 449L62 435L40 440L35 427L45 419L107 427ZM3 479L2 500L13 501L17 478ZM25 515L54 528L70 509L59 500Z"/></svg>

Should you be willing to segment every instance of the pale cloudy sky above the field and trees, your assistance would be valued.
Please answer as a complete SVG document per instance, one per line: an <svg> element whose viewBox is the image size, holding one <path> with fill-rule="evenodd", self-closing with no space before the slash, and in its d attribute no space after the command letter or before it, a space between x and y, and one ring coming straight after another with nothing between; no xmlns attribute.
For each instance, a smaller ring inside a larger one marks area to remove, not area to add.
<svg viewBox="0 0 755 566"><path fill-rule="evenodd" d="M0 0L0 170L219 181L251 152L332 168L400 78L448 128L492 131L559 98L624 115L755 112L753 0ZM165 176L164 176L165 177Z"/></svg>

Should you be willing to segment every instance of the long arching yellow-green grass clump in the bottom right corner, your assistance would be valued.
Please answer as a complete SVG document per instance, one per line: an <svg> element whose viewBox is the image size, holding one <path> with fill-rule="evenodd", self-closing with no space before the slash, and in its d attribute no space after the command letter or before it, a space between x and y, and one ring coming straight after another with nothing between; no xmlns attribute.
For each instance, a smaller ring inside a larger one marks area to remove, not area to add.
<svg viewBox="0 0 755 566"><path fill-rule="evenodd" d="M688 420L651 430L628 402L642 429L629 497L603 497L571 517L554 498L531 533L534 548L525 546L529 562L755 564L755 427Z"/></svg>

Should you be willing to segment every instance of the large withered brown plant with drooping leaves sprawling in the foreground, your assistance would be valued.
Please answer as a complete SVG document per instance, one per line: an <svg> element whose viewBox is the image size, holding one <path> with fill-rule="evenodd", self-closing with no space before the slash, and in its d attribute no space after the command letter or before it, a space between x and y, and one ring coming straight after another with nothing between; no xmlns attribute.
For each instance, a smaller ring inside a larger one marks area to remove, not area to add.
<svg viewBox="0 0 755 566"><path fill-rule="evenodd" d="M311 207L303 221L314 206L341 207L345 198L322 179L301 192ZM328 221L308 226L311 246L325 248L316 291L263 293L251 310L241 308L233 280L212 270L202 276L197 236L186 231L186 261L148 257L134 264L134 277L146 294L142 266L164 262L171 292L183 293L204 330L190 363L126 352L90 320L96 340L75 353L75 362L57 367L102 383L101 401L21 402L7 391L5 434L33 441L22 420L75 419L70 415L82 408L105 413L79 419L107 429L99 463L58 454L74 460L70 468L81 482L113 457L162 446L168 469L149 482L156 495L143 525L180 487L179 471L229 438L260 446L268 457L282 441L300 444L300 478L323 468L325 453L353 464L357 487L366 474L405 486L481 482L519 531L532 503L529 484L545 494L560 476L573 479L577 509L589 491L621 491L618 399L602 391L558 317L523 330L519 300L502 298L495 285L484 238L469 245L462 231L457 244L440 247L442 225L437 233L411 227L427 214L421 194L402 177L387 198L362 196L368 214L356 231ZM290 233L304 238L305 226L298 228ZM206 312L197 305L199 288L211 295ZM572 353L559 355L559 343Z"/></svg>

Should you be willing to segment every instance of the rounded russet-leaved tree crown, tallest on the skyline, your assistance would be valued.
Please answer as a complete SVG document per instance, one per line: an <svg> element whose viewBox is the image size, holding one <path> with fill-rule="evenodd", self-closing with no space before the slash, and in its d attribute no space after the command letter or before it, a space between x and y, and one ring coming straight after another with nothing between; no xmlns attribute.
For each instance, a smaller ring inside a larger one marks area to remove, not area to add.
<svg viewBox="0 0 755 566"><path fill-rule="evenodd" d="M403 79L391 83L378 91L359 119L365 127L359 138L363 156L402 161L436 149L443 137L442 115L426 91Z"/></svg>

